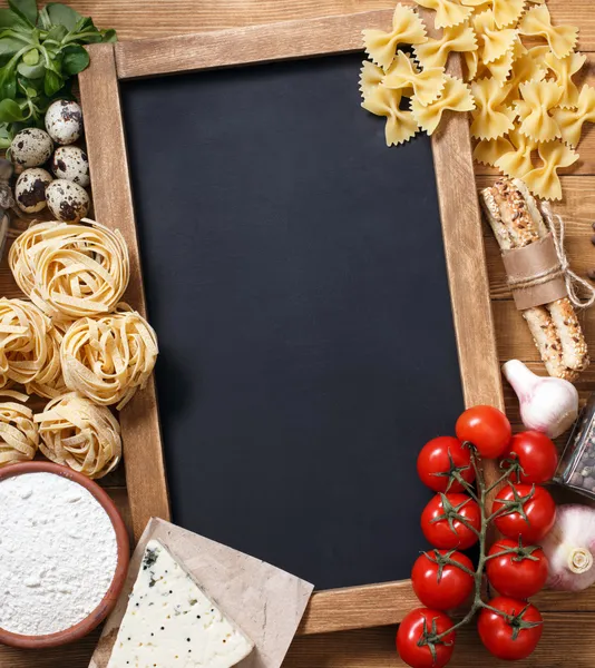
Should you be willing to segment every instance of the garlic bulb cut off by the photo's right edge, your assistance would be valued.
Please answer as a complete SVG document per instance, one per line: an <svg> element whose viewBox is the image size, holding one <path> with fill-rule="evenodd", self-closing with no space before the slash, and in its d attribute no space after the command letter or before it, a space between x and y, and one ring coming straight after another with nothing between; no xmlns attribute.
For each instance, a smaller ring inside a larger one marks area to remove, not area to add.
<svg viewBox="0 0 595 668"><path fill-rule="evenodd" d="M542 541L549 562L547 586L581 591L595 582L595 510L588 505L558 505L556 523Z"/></svg>

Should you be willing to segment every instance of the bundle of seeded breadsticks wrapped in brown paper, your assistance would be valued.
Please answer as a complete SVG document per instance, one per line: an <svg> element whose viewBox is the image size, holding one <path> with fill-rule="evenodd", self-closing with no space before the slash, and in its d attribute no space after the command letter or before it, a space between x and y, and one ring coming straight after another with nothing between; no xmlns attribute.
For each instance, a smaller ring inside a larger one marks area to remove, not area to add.
<svg viewBox="0 0 595 668"><path fill-rule="evenodd" d="M517 308L547 373L575 381L589 364L587 344L568 297L560 244L544 222L545 209L519 179L497 180L480 199L503 250Z"/></svg>

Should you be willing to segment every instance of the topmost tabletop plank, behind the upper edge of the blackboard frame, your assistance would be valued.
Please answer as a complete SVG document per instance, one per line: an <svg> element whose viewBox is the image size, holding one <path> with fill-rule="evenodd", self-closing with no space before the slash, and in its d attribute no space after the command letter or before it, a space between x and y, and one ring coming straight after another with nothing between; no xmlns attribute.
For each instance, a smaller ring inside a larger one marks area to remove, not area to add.
<svg viewBox="0 0 595 668"><path fill-rule="evenodd" d="M402 2L413 4L412 0ZM6 4L6 0L2 4ZM116 28L119 39L124 41L392 9L394 0L70 0L69 4L84 16L92 16L97 26ZM581 26L581 49L595 50L595 12L592 0L548 0L547 4L554 22Z"/></svg>

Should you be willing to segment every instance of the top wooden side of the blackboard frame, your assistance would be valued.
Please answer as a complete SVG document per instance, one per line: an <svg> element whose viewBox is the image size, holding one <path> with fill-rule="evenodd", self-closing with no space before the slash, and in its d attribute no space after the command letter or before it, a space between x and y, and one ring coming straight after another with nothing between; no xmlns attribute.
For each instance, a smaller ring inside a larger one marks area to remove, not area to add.
<svg viewBox="0 0 595 668"><path fill-rule="evenodd" d="M357 51L362 48L362 29L388 28L391 16L390 10L382 10L119 42L115 46L118 78Z"/></svg>

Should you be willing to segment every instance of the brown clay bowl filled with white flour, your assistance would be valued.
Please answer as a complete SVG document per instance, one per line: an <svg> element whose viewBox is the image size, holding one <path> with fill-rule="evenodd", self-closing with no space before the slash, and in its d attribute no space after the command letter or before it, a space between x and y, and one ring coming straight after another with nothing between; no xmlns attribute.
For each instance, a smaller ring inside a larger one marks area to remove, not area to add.
<svg viewBox="0 0 595 668"><path fill-rule="evenodd" d="M97 483L49 462L0 470L0 642L86 636L116 605L128 559L124 521Z"/></svg>

